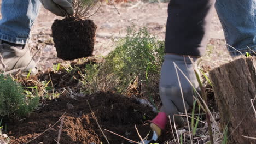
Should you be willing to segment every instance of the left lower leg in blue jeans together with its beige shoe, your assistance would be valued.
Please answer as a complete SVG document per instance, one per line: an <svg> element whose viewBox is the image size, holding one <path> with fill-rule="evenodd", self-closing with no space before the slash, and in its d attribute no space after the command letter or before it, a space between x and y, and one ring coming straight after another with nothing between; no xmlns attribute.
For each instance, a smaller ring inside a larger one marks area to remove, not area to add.
<svg viewBox="0 0 256 144"><path fill-rule="evenodd" d="M26 43L39 7L39 0L2 0L0 73L9 74L20 70L22 74L27 71L32 75L37 73L36 63Z"/></svg>

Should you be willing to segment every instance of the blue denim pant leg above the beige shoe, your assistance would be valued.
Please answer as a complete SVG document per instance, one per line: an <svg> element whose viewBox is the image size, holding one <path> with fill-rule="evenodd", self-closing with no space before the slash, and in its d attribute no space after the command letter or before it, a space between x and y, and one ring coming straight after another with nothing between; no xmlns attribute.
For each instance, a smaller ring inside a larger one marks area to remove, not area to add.
<svg viewBox="0 0 256 144"><path fill-rule="evenodd" d="M39 0L2 0L0 39L26 44L39 7Z"/></svg>

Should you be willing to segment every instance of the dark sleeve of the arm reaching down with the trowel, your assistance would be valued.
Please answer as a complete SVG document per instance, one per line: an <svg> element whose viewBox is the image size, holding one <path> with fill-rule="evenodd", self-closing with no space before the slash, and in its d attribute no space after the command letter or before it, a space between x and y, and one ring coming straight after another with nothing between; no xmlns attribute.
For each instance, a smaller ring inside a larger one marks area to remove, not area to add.
<svg viewBox="0 0 256 144"><path fill-rule="evenodd" d="M202 56L208 43L215 0L171 0L168 5L165 53Z"/></svg>

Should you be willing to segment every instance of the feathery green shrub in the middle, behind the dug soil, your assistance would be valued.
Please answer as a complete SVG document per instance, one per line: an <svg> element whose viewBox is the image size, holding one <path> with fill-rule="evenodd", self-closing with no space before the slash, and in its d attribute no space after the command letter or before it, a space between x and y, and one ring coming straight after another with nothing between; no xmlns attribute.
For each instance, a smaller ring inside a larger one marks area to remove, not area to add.
<svg viewBox="0 0 256 144"><path fill-rule="evenodd" d="M115 50L104 62L88 65L84 83L87 92L112 91L125 94L134 87L157 93L164 42L151 35L147 28L127 29Z"/></svg>

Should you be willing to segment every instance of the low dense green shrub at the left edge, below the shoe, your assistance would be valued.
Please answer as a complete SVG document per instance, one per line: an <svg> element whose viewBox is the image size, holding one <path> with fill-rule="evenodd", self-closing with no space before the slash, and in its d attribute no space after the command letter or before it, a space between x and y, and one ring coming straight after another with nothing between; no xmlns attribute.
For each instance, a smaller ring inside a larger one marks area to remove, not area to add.
<svg viewBox="0 0 256 144"><path fill-rule="evenodd" d="M0 74L0 117L24 117L36 109L39 97L26 97L18 82Z"/></svg>

